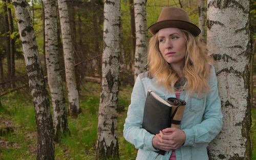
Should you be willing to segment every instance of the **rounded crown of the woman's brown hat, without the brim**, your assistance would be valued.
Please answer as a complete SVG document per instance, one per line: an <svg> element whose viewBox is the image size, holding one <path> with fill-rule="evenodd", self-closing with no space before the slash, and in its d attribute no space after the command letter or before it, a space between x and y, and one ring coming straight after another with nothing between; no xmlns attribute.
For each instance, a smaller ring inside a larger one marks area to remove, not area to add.
<svg viewBox="0 0 256 160"><path fill-rule="evenodd" d="M167 7L162 9L157 21L163 20L183 20L190 22L187 12L177 7Z"/></svg>

